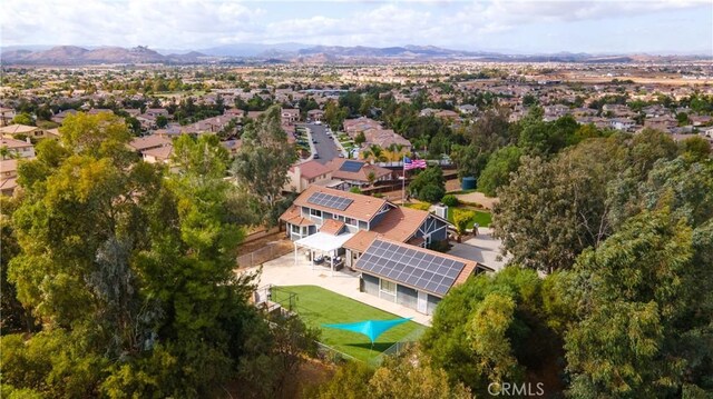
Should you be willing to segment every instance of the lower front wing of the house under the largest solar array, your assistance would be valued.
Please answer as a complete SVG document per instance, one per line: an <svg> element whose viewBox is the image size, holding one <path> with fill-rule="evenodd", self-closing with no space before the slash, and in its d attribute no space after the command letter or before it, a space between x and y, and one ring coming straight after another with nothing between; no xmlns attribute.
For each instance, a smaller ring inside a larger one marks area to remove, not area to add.
<svg viewBox="0 0 713 399"><path fill-rule="evenodd" d="M360 291L432 315L448 291L473 273L492 271L476 261L375 238L354 266Z"/></svg>

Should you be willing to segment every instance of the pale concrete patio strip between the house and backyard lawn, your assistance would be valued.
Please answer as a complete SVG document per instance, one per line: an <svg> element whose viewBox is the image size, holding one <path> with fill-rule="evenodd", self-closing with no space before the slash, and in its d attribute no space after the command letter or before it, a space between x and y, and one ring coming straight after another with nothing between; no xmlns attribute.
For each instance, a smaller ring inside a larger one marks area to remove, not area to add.
<svg viewBox="0 0 713 399"><path fill-rule="evenodd" d="M331 270L326 267L314 266L314 270L312 270L312 262L305 260L302 252L299 252L296 266L294 265L294 252L289 253L263 265L263 273L260 277L257 286L319 286L390 313L400 317L410 317L420 325L431 326L430 316L419 313L414 309L390 302L385 299L360 292L359 273L351 272L344 268L342 269L343 271L334 271L334 276L331 276ZM257 268L245 270L255 271ZM243 270L238 272L243 272Z"/></svg>

